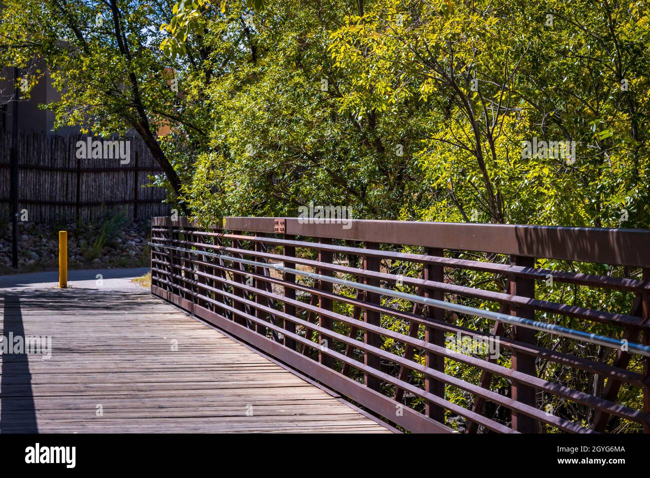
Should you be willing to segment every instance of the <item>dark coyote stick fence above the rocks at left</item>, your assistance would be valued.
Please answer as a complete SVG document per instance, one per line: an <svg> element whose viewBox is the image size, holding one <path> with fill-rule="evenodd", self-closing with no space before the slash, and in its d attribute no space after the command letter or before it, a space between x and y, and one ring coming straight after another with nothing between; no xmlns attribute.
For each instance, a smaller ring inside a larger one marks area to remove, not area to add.
<svg viewBox="0 0 650 478"><path fill-rule="evenodd" d="M115 158L77 158L77 142L86 139L0 133L0 216L8 217L12 211L11 193L17 184L17 210L28 213L28 219L21 220L101 220L113 211L123 211L129 219L148 219L169 212L170 205L163 204L163 187L143 187L162 169L142 139L121 139L129 143L124 163Z"/></svg>

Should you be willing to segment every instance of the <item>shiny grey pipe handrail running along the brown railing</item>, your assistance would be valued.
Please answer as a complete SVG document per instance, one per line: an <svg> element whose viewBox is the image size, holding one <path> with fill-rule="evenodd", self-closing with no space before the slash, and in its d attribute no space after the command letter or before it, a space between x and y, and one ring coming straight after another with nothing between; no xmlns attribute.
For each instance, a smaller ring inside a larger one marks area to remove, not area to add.
<svg viewBox="0 0 650 478"><path fill-rule="evenodd" d="M258 261L251 261L243 258L234 258L233 256L226 256L224 254L216 254L214 252L196 250L196 249L187 249L181 247L168 246L159 243L149 243L149 245L154 247L167 248L172 250L179 250L181 252L188 252L191 254L198 254L201 256L214 257L218 259L223 259L226 261L233 261L242 264L252 265L255 267L263 267L266 269L275 269L276 271L287 272L289 274L296 274L300 276L309 277L315 280L321 280L330 282L332 284L347 285L348 287L354 287L356 289L361 289L363 291L369 291L378 293L381 295L389 295L397 299L408 300L409 302L415 302L417 304L422 304L426 306L434 306L436 308L441 308L451 312L466 313L468 315L473 315L474 317L483 317L491 321L499 321L502 323L508 323L510 325L522 326L525 328L530 328L532 330L539 330L543 332L551 332L559 336L564 336L567 338L577 339L581 341L586 341L589 343L595 343L597 345L603 345L604 347L612 347L615 349L620 349L623 351L633 352L640 354L646 357L650 357L650 345L642 345L640 343L630 342L627 340L616 339L607 336L601 336L599 334L590 334L588 332L583 332L582 330L575 330L573 328L568 328L560 325L548 324L540 321L534 321L532 319L524 319L522 317L515 317L513 315L506 315L500 312L492 312L489 310L482 310L478 308L473 308L469 306L463 306L461 304L454 304L452 302L447 302L445 300L430 299L428 297L421 297L418 295L413 295L409 293L404 293L400 291L392 291L390 289L384 289L382 287L376 287L374 285L361 284L359 282L354 282L350 280L339 279L331 276L326 276L323 274L317 274L316 272L306 272L300 271L298 269L291 269L289 267L283 267L279 264L268 264ZM211 246L214 248L219 248L219 246Z"/></svg>

